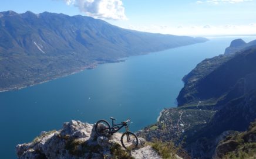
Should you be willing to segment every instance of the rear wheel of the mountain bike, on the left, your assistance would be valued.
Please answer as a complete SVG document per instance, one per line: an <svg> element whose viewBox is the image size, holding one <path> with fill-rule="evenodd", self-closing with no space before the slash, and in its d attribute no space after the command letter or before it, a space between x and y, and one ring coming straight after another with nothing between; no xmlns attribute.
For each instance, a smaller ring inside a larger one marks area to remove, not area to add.
<svg viewBox="0 0 256 159"><path fill-rule="evenodd" d="M95 131L98 136L109 136L110 125L106 120L99 120L95 125Z"/></svg>

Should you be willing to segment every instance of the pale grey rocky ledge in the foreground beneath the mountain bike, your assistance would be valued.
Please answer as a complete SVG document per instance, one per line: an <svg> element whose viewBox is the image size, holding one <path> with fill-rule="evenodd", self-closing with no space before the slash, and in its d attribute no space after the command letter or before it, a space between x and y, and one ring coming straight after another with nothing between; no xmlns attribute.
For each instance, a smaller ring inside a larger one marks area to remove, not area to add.
<svg viewBox="0 0 256 159"><path fill-rule="evenodd" d="M162 158L150 144L139 138L136 150L126 151L120 143L121 133L97 136L94 125L72 120L61 130L42 132L31 143L18 144L18 158ZM178 158L178 157L177 157Z"/></svg>

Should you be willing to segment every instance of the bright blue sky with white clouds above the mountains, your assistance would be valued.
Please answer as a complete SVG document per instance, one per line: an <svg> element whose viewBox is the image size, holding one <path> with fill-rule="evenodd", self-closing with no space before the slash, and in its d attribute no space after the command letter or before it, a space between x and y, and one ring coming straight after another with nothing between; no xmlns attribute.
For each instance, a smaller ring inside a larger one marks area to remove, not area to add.
<svg viewBox="0 0 256 159"><path fill-rule="evenodd" d="M126 29L189 36L256 34L256 0L8 0L0 11L103 19Z"/></svg>

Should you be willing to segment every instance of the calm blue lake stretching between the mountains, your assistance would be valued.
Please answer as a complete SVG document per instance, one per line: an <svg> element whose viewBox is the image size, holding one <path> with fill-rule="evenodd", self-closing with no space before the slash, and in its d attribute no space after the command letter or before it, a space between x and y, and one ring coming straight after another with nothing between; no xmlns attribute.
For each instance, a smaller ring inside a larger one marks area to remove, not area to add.
<svg viewBox="0 0 256 159"><path fill-rule="evenodd" d="M15 146L63 122L130 118L132 131L156 122L176 106L181 79L204 60L224 53L237 37L129 57L19 91L0 92L0 158L16 158ZM243 37L245 41L255 37Z"/></svg>

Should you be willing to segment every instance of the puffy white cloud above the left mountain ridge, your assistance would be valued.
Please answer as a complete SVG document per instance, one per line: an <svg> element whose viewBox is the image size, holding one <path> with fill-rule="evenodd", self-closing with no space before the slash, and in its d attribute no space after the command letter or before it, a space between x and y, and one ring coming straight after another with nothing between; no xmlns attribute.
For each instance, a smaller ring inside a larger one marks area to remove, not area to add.
<svg viewBox="0 0 256 159"><path fill-rule="evenodd" d="M122 0L62 0L87 16L99 19L127 19Z"/></svg>

